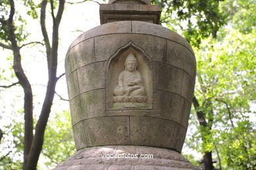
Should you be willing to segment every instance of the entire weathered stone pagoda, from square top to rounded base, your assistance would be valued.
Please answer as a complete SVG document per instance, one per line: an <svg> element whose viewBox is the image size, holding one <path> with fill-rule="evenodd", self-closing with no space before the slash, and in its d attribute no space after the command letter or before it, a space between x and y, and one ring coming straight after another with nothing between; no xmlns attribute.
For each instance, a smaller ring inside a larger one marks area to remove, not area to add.
<svg viewBox="0 0 256 170"><path fill-rule="evenodd" d="M101 25L70 45L77 152L55 169L198 169L180 154L196 59L181 35L158 25L160 13L149 0L110 0Z"/></svg>

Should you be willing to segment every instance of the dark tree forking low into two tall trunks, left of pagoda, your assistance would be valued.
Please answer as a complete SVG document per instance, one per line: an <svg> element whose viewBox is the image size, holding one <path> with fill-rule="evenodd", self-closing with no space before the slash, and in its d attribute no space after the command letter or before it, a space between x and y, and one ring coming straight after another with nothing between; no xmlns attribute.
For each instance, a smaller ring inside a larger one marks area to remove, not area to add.
<svg viewBox="0 0 256 170"><path fill-rule="evenodd" d="M33 93L30 81L28 80L21 63L21 53L20 48L22 41L26 39L26 35L22 34L22 27L17 27L15 24L15 5L14 1L2 1L4 5L1 6L1 10L8 12L9 15L1 16L1 42L0 46L9 50L13 53L13 69L14 73L18 79L16 84L20 84L24 90L24 120L25 120L25 130L24 130L24 165L23 169L35 169L37 166L37 161L39 159L39 154L43 146L43 138L45 133L45 127L47 126L47 120L51 112L51 106L53 105L53 98L55 92L55 86L58 79L63 76L56 76L57 61L58 61L58 27L60 25L60 20L62 18L62 13L64 11L64 0L58 2L50 1L51 4L51 16L53 19L53 30L52 30L52 42L50 43L49 35L45 26L45 15L47 0L41 2L41 31L43 33L43 41L46 47L47 65L49 80L47 83L47 92L45 94L45 99L43 101L43 107L41 109L41 114L39 120L37 120L37 125L35 127L35 134L33 135ZM30 5L32 10L30 10L32 16L36 18L35 4L33 1L24 0L26 5ZM54 14L55 8L58 7L56 16ZM34 8L34 9L33 9ZM8 11L9 9L9 11ZM21 16L18 20L22 21ZM24 21L23 21L24 22ZM20 32L17 33L17 29ZM29 44L31 44L30 42ZM14 85L14 84L12 84ZM11 86L12 86L11 85Z"/></svg>

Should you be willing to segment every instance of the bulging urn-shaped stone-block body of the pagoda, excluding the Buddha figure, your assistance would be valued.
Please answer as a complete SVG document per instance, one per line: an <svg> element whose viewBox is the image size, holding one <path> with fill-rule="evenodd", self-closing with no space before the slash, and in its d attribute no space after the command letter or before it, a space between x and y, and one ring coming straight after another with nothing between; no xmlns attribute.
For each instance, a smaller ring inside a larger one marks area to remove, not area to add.
<svg viewBox="0 0 256 170"><path fill-rule="evenodd" d="M66 71L72 124L83 122L87 147L138 144L181 151L196 75L185 42L169 29L135 21L104 24L77 39ZM116 106L114 90L130 52L148 99L143 106Z"/></svg>

